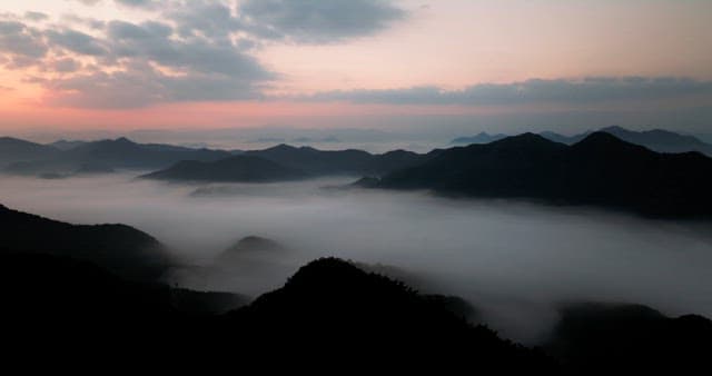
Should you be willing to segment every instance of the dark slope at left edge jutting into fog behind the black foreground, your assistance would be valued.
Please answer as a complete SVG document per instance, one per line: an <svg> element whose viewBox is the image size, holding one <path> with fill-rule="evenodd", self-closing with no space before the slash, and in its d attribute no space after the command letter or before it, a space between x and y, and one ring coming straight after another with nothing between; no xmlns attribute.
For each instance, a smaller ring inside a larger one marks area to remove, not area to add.
<svg viewBox="0 0 712 376"><path fill-rule="evenodd" d="M91 261L131 279L169 267L164 246L126 225L70 225L0 205L0 254L42 254Z"/></svg>

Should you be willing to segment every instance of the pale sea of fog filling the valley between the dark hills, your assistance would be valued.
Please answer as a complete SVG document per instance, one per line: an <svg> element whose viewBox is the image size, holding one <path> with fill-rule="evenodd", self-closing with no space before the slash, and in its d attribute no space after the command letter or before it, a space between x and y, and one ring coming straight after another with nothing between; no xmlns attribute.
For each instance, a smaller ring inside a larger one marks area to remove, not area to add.
<svg viewBox="0 0 712 376"><path fill-rule="evenodd" d="M393 266L422 290L464 297L486 323L524 343L545 336L556 305L572 300L712 317L710 224L324 188L352 178L180 185L135 176L0 177L0 204L76 224L137 227L186 265L175 283L197 289L255 296L320 256ZM215 257L249 235L288 249L216 271Z"/></svg>

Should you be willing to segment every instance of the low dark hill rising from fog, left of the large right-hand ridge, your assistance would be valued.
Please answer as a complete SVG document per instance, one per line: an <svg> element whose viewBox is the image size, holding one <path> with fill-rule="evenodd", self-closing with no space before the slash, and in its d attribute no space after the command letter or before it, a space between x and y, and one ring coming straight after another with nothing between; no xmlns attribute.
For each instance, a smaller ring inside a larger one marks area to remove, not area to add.
<svg viewBox="0 0 712 376"><path fill-rule="evenodd" d="M141 178L158 180L268 182L304 179L309 175L259 157L238 155L211 162L184 160Z"/></svg>

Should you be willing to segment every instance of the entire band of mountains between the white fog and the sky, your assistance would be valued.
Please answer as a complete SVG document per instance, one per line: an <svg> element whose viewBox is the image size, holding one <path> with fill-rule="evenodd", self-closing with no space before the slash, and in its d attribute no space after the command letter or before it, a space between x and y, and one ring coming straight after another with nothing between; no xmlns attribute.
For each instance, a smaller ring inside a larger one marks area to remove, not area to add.
<svg viewBox="0 0 712 376"><path fill-rule="evenodd" d="M477 138L484 141L501 136ZM525 133L428 154L395 150L380 155L288 145L228 152L140 145L123 138L79 142L60 150L2 138L0 156L6 162L23 160L11 162L6 172L42 172L44 177L55 177L49 174L52 168L67 166L73 168L72 174L161 166L142 177L174 181L269 182L360 175L369 177L354 185L363 188L541 199L651 216L712 215L712 159L695 151L656 152L622 139L634 138L668 150L705 146L695 138L661 130L632 132L619 127L573 138L551 132L544 136Z"/></svg>

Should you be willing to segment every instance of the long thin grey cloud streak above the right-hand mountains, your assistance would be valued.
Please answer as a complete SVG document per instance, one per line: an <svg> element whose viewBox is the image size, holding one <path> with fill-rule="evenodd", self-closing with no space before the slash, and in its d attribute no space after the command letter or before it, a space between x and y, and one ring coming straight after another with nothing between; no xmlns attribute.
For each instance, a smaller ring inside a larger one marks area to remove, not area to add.
<svg viewBox="0 0 712 376"><path fill-rule="evenodd" d="M457 91L447 91L437 87L327 91L316 93L307 99L388 105L498 106L591 103L688 97L712 98L712 81L673 77L597 77L582 80L533 79L514 83L479 83Z"/></svg>

